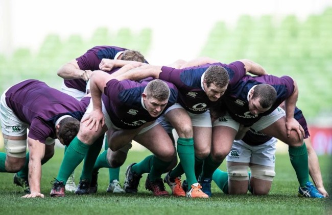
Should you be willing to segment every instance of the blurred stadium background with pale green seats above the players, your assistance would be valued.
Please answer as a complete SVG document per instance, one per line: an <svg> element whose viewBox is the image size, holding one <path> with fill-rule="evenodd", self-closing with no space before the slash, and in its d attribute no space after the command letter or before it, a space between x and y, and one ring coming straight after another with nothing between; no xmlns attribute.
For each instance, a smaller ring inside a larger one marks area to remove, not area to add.
<svg viewBox="0 0 332 215"><path fill-rule="evenodd" d="M96 45L155 65L247 58L296 79L313 146L332 153L332 0L0 0L0 17L0 92L28 78L60 89L59 67Z"/></svg>

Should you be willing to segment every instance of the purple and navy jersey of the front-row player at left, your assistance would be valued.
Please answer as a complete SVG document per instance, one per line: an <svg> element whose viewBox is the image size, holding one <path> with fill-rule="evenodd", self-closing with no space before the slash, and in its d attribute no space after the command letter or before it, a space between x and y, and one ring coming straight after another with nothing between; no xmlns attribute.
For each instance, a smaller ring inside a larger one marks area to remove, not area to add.
<svg viewBox="0 0 332 215"><path fill-rule="evenodd" d="M116 127L134 129L158 118L152 117L143 106L142 93L151 80L138 82L122 80L119 82L116 79L111 79L106 84L102 100L112 123ZM171 83L165 83L169 86L171 95L163 112L172 106L178 97L177 88Z"/></svg>

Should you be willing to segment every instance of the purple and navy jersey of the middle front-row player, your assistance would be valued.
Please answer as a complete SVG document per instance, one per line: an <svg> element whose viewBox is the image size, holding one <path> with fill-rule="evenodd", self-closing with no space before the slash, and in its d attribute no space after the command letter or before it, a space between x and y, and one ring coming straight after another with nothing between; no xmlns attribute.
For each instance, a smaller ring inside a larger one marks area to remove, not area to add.
<svg viewBox="0 0 332 215"><path fill-rule="evenodd" d="M229 86L235 85L246 74L244 64L240 61L235 61L230 64L214 63L183 69L163 66L159 79L171 82L179 89L177 102L185 110L193 114L201 114L206 112L212 103L202 86L202 76L210 66L222 66L227 70Z"/></svg>

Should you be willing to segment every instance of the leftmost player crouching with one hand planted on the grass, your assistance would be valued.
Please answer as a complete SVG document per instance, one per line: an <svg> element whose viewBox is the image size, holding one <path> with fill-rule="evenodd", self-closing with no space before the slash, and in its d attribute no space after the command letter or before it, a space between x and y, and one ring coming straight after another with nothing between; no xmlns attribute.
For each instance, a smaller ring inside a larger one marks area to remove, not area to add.
<svg viewBox="0 0 332 215"><path fill-rule="evenodd" d="M14 177L17 185L25 186L27 192L30 190L23 197L44 197L40 193L41 164L53 156L55 139L68 145L77 135L89 101L90 97L78 101L32 79L2 94L0 116L6 153L0 153L0 172L18 172L28 168L29 163L28 176L15 174Z"/></svg>

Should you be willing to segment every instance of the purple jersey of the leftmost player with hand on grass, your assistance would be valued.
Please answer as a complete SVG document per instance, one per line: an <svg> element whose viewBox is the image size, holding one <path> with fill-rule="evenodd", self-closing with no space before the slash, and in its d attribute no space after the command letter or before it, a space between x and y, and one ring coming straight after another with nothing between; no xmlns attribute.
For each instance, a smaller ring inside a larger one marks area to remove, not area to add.
<svg viewBox="0 0 332 215"><path fill-rule="evenodd" d="M56 139L55 122L63 115L81 120L90 97L81 101L39 80L25 80L6 92L6 104L22 122L30 125L28 137L45 143Z"/></svg>

